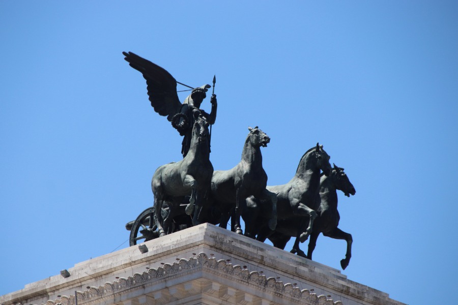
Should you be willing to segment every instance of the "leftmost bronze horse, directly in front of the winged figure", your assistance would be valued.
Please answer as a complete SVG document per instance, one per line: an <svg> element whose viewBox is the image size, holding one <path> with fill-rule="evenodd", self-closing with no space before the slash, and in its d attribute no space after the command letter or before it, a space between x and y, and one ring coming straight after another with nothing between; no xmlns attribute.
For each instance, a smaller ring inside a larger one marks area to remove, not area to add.
<svg viewBox="0 0 458 305"><path fill-rule="evenodd" d="M169 233L169 223L175 216L179 204L185 196L191 196L186 206L186 214L191 215L194 206L192 225L198 224L198 215L204 204L204 196L210 186L213 174L213 165L210 162L209 123L202 114L195 114L195 123L192 127L191 146L183 160L160 166L154 173L151 188L154 194L154 207L159 237ZM162 219L161 208L166 200L170 205L170 213Z"/></svg>

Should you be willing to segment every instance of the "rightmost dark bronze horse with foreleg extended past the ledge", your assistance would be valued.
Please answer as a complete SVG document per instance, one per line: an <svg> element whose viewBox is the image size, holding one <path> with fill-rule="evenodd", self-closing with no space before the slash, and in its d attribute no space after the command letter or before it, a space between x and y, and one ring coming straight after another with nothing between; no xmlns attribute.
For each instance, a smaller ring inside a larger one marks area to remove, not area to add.
<svg viewBox="0 0 458 305"><path fill-rule="evenodd" d="M356 191L350 182L343 168L334 164L331 174L326 177L322 175L320 182L320 207L317 209L318 217L313 223L312 233L308 242L307 258L312 259L312 253L317 245L317 238L320 233L335 238L345 239L347 241L347 253L345 259L340 261L340 266L345 270L350 258L352 257L352 235L337 228L339 224L339 212L337 211L337 191L344 192L345 196L355 195ZM278 221L275 233L269 236L274 247L284 249L291 236L294 236L296 228L299 226L298 221Z"/></svg>

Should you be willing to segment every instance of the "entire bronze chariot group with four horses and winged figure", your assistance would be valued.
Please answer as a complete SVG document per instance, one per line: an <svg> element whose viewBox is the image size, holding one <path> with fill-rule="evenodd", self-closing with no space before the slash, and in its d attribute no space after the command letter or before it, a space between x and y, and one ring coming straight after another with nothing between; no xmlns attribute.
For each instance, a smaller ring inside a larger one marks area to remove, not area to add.
<svg viewBox="0 0 458 305"><path fill-rule="evenodd" d="M322 145L317 143L305 152L295 176L287 184L269 187L261 146L266 147L270 138L259 128L249 127L241 161L230 170L213 171L209 157L211 127L217 112L216 78L213 78L209 114L200 107L210 85L189 87L149 60L132 52L123 54L129 65L146 79L154 111L166 116L183 136L183 160L162 165L153 175L154 206L126 224L131 231L131 246L140 240L151 240L201 222L219 223L226 228L230 218L231 230L242 234L240 217L243 216L246 236L260 241L269 238L281 249L294 236L291 252L309 259L320 233L345 239L347 253L340 264L342 269L348 266L352 236L337 228L336 190L350 196L355 194L355 188L343 168L334 165L332 170L330 157ZM192 89L183 103L178 99L177 83ZM304 242L308 236L310 242L305 255L299 242Z"/></svg>

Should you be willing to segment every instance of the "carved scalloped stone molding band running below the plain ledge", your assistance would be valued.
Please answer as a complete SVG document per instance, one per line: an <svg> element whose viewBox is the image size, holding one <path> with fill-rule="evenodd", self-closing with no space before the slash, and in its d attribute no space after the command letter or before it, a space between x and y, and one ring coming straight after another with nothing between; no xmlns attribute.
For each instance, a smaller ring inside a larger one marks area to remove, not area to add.
<svg viewBox="0 0 458 305"><path fill-rule="evenodd" d="M209 258L205 253L199 253L197 257L189 259L180 259L173 264L164 264L157 269L151 268L143 273L135 273L132 277L120 278L112 283L106 282L103 286L90 287L88 290L76 291L77 303L82 305L89 302L97 302L103 300L105 297L112 296L115 293L127 291L129 289L141 288L145 285L153 285L156 282L185 275L189 271L196 271L199 268L210 272L221 273L226 278L231 278L243 284L253 285L262 291L270 292L272 294L281 295L283 297L291 298L292 301L299 304L310 305L342 305L341 301L334 302L332 299L327 299L325 295L317 296L310 293L308 289L300 290L294 287L293 284L283 284L275 278L266 278L257 271L249 271L240 265L233 265L227 263L225 260L216 260ZM169 289L171 295L183 295L182 288ZM206 293L215 293L216 290L212 287L203 289ZM190 291L190 290L189 290ZM194 292L195 289L193 290ZM168 293L168 292L167 292ZM189 293L189 292L188 292ZM224 298L224 293L218 292L219 296ZM227 296L228 297L228 296ZM42 305L75 305L75 296L61 296L55 300L48 300Z"/></svg>

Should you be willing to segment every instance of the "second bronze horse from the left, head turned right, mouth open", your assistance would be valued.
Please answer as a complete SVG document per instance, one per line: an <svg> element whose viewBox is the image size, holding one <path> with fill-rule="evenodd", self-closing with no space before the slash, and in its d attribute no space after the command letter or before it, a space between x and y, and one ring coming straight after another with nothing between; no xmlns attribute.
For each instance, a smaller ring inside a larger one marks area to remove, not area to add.
<svg viewBox="0 0 458 305"><path fill-rule="evenodd" d="M245 199L249 196L269 200L270 220L269 228L275 229L277 219L275 194L266 190L267 174L263 169L261 146L267 147L270 138L257 126L248 127L242 150L242 159L230 170L217 170L211 179L211 200L214 206L221 211L219 226L226 228L229 218L233 218L232 230L242 234L240 216ZM234 210L235 209L235 210Z"/></svg>

